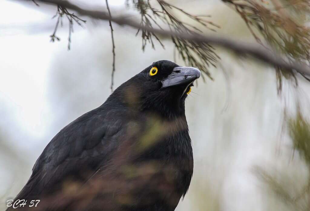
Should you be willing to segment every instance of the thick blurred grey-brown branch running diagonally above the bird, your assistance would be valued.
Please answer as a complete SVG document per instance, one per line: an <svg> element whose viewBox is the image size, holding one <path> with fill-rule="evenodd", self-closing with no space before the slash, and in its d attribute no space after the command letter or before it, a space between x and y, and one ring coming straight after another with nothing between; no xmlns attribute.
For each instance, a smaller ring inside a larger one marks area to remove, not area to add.
<svg viewBox="0 0 310 211"><path fill-rule="evenodd" d="M260 46L259 44L240 42L229 38L211 36L211 35L200 35L200 34L185 34L177 33L169 30L153 29L147 26L141 26L139 23L130 20L126 16L110 17L107 12L97 10L86 10L77 5L74 5L66 0L40 0L48 4L61 5L67 9L77 11L80 15L89 16L91 18L100 20L111 20L112 22L121 26L130 26L135 29L144 29L149 32L160 34L163 37L178 37L180 39L191 40L196 43L208 43L224 47L236 52L241 56L253 56L254 58L268 63L270 65L281 67L283 70L292 72L296 70L298 73L310 76L310 67L303 62L286 62L284 59L277 55L277 53Z"/></svg>

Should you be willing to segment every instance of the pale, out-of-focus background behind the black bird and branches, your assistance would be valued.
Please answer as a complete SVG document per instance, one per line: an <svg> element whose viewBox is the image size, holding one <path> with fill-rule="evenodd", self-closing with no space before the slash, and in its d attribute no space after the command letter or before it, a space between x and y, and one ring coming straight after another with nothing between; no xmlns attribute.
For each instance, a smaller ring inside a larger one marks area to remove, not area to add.
<svg viewBox="0 0 310 211"><path fill-rule="evenodd" d="M171 1L193 14L209 14L215 34L253 41L245 22L221 1ZM113 14L128 12L123 0L109 1ZM104 1L87 5L105 7ZM135 14L135 11L130 11ZM0 209L31 175L42 150L64 126L100 106L110 95L111 32L107 21L74 25L68 51L68 24L49 42L55 7L0 2ZM184 17L185 18L185 17ZM135 30L114 28L114 88L158 60L174 60L174 47L141 50ZM206 33L211 33L207 31ZM212 34L214 34L212 32ZM309 167L285 120L298 108L309 118L310 83L277 79L272 67L241 60L225 49L210 67L213 81L198 80L186 99L193 141L194 174L181 210L309 210ZM184 65L176 56L176 63Z"/></svg>

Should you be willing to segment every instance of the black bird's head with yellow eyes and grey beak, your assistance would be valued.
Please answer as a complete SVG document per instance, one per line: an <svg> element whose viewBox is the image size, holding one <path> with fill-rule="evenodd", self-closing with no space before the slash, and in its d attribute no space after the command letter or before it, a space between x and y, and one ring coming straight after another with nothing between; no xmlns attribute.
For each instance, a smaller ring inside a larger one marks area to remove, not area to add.
<svg viewBox="0 0 310 211"><path fill-rule="evenodd" d="M185 98L199 77L196 68L161 60L123 83L114 94L125 95L123 100L140 110L183 114Z"/></svg>

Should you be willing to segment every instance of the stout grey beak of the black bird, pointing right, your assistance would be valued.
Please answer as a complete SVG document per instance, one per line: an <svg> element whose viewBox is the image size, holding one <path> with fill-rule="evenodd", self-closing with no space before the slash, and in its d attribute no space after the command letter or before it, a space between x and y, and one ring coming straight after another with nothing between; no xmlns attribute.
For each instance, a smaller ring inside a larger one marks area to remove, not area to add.
<svg viewBox="0 0 310 211"><path fill-rule="evenodd" d="M189 85L200 77L200 70L194 67L175 67L170 75L162 80L162 88L176 85Z"/></svg>

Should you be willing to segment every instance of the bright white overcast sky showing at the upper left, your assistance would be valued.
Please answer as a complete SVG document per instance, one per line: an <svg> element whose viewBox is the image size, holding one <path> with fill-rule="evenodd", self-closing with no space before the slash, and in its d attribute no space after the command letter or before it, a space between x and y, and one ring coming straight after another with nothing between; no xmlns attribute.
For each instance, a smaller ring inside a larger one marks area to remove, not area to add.
<svg viewBox="0 0 310 211"><path fill-rule="evenodd" d="M91 1L90 5L102 5ZM111 7L124 6L124 0L110 1ZM39 3L39 2L38 2ZM48 67L59 45L67 42L67 28L60 29L63 43L51 43L55 27L54 11L28 6L18 1L0 1L0 102L18 118L22 128L33 136L44 134L41 124ZM64 31L65 30L65 31ZM75 26L75 32L83 30Z"/></svg>

